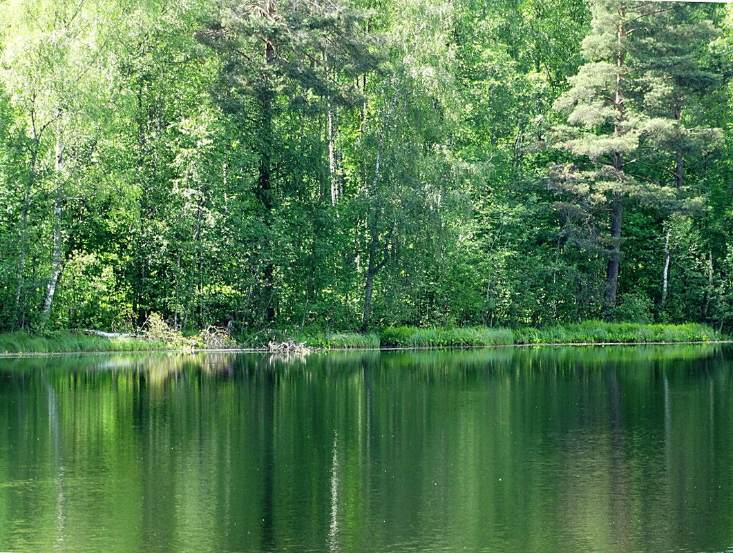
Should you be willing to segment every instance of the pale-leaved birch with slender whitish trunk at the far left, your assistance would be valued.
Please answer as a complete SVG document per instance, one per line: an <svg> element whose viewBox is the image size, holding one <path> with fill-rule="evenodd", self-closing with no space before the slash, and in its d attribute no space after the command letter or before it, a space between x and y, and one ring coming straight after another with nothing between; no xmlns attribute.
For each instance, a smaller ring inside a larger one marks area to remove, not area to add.
<svg viewBox="0 0 733 553"><path fill-rule="evenodd" d="M106 3L93 0L20 2L3 7L6 27L1 78L10 93L15 125L26 152L24 183L19 190L17 327L25 326L26 315L38 300L25 297L30 289L37 289L26 283L29 270L35 272L28 263L32 256L32 212L50 207L50 221L34 221L40 234L51 227L50 256L43 256L50 257L50 270L43 271L45 294L37 322L45 326L48 321L65 250L64 207L70 183L83 173L98 125L103 122L95 94L106 86L106 48L119 21L120 7L110 9Z"/></svg>

